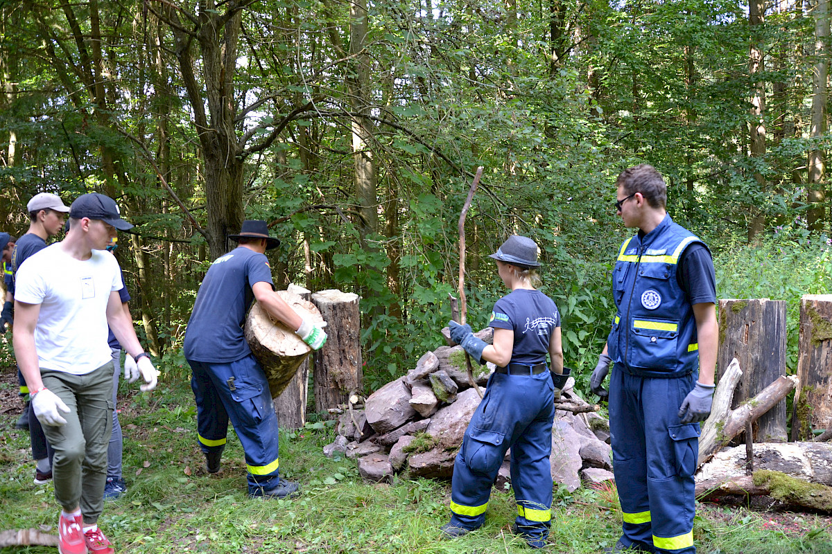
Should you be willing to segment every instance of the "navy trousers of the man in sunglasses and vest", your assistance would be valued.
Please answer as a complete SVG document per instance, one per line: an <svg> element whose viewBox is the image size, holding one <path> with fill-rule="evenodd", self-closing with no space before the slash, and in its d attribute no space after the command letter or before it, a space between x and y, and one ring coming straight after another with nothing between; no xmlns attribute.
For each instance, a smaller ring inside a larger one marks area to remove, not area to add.
<svg viewBox="0 0 832 554"><path fill-rule="evenodd" d="M613 473L622 504L626 546L694 554L698 423L681 424L679 406L693 390L693 375L671 379L610 376Z"/></svg>

